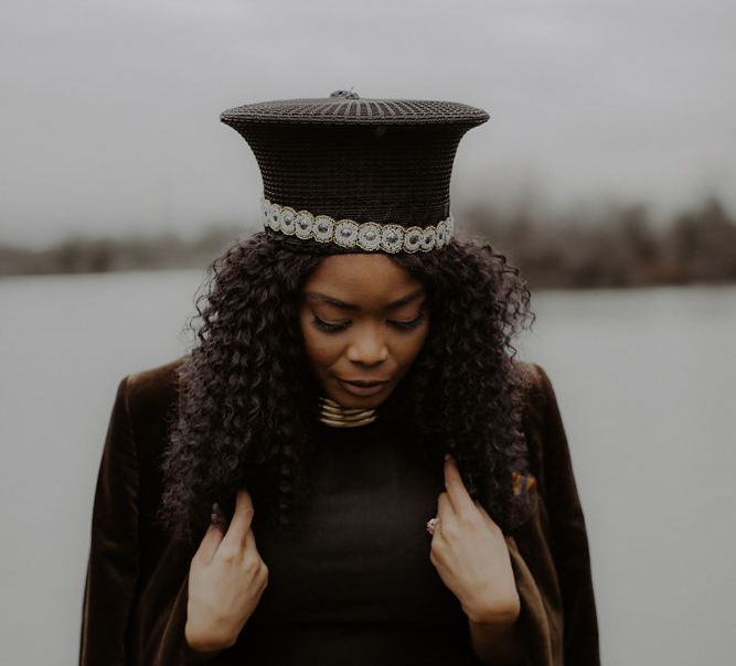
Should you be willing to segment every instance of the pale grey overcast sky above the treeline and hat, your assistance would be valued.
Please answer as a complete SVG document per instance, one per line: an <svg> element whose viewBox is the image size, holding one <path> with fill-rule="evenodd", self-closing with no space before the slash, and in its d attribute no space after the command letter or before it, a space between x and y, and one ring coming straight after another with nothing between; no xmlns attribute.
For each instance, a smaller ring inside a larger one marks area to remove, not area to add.
<svg viewBox="0 0 736 666"><path fill-rule="evenodd" d="M249 225L239 104L451 99L456 210L736 210L733 0L0 0L0 243Z"/></svg>

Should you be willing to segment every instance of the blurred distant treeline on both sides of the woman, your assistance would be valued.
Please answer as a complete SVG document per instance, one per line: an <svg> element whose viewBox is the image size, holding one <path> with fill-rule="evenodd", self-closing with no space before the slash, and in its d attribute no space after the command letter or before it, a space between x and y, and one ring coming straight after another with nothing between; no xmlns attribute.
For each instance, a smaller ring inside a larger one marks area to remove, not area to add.
<svg viewBox="0 0 736 666"><path fill-rule="evenodd" d="M637 287L736 281L736 221L708 200L654 224L646 206L595 218L541 219L482 206L457 215L520 268L532 288ZM174 234L74 236L42 250L0 245L0 276L203 268L249 232L222 225L193 240Z"/></svg>

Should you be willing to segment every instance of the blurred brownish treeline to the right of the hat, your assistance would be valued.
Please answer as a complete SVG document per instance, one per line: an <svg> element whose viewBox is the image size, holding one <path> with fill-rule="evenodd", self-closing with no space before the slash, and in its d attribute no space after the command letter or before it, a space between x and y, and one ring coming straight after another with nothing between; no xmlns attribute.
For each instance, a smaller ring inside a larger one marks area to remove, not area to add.
<svg viewBox="0 0 736 666"><path fill-rule="evenodd" d="M654 224L642 205L545 221L477 208L463 223L504 253L532 287L736 281L736 219L715 198L665 224Z"/></svg>

